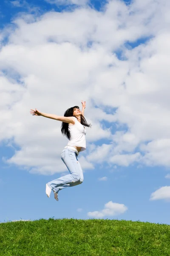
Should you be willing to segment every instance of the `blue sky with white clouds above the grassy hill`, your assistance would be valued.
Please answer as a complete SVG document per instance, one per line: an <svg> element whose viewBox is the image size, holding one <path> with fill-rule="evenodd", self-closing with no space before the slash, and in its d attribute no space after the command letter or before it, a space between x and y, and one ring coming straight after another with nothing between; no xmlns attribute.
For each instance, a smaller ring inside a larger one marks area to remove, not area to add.
<svg viewBox="0 0 170 256"><path fill-rule="evenodd" d="M170 224L170 1L0 3L0 222L110 218ZM63 115L86 101L84 182L68 174Z"/></svg>

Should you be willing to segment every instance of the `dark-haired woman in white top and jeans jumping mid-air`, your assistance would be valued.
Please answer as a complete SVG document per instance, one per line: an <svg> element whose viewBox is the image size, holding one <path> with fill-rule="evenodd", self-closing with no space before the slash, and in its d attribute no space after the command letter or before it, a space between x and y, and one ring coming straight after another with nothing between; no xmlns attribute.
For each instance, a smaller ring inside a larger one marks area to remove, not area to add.
<svg viewBox="0 0 170 256"><path fill-rule="evenodd" d="M52 180L46 184L46 195L48 198L50 197L51 190L53 190L54 198L58 201L59 190L76 186L83 182L83 172L77 157L80 151L86 149L85 126L91 127L91 124L88 124L84 117L85 105L86 103L82 102L82 111L80 111L78 106L68 108L64 116L41 113L37 109L31 109L30 111L33 116L44 116L61 121L61 132L69 140L68 145L61 153L61 159L67 166L70 174Z"/></svg>

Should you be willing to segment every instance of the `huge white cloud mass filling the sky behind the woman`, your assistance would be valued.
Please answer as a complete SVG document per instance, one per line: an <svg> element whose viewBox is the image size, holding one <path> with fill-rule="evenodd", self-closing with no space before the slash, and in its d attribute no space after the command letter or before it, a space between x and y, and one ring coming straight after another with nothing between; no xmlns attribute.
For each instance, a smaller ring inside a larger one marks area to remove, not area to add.
<svg viewBox="0 0 170 256"><path fill-rule="evenodd" d="M93 126L82 168L106 159L111 166L170 166L169 9L168 0L117 0L102 12L18 15L0 36L0 140L17 146L7 163L63 172L61 123L29 110L63 115L85 99Z"/></svg>

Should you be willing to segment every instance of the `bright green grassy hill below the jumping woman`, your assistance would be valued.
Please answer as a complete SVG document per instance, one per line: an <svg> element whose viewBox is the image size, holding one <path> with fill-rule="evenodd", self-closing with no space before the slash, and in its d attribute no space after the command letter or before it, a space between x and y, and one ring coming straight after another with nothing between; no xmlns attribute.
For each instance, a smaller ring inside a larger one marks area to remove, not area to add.
<svg viewBox="0 0 170 256"><path fill-rule="evenodd" d="M0 256L170 256L170 226L40 219L0 224Z"/></svg>

